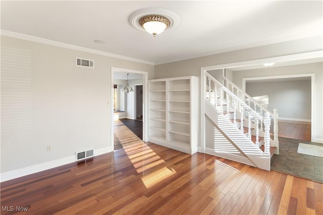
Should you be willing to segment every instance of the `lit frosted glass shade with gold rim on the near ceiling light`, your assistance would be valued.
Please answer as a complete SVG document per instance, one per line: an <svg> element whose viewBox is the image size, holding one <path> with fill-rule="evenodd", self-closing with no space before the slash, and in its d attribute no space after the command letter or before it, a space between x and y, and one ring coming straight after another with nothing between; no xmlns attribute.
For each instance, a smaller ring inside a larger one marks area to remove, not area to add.
<svg viewBox="0 0 323 215"><path fill-rule="evenodd" d="M167 29L171 22L166 17L160 15L148 15L140 18L139 24L153 36L160 34Z"/></svg>

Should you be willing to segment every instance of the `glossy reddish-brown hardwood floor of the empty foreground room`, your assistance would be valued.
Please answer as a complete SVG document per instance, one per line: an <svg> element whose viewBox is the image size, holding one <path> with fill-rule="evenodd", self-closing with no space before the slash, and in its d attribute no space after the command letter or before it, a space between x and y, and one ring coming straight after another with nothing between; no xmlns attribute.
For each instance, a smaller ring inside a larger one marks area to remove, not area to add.
<svg viewBox="0 0 323 215"><path fill-rule="evenodd" d="M1 206L1 214L16 206L28 207L19 214L323 214L323 184L141 142L3 182Z"/></svg>

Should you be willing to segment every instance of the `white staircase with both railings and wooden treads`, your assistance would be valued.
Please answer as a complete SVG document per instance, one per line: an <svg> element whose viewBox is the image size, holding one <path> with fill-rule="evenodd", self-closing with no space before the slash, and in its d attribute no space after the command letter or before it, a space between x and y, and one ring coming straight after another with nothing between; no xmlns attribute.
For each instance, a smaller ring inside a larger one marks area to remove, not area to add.
<svg viewBox="0 0 323 215"><path fill-rule="evenodd" d="M205 115L239 154L217 152L217 156L270 170L271 157L279 153L278 110L271 113L225 77L227 87L206 72L205 76ZM270 134L272 120L273 139ZM216 144L214 136L214 149Z"/></svg>

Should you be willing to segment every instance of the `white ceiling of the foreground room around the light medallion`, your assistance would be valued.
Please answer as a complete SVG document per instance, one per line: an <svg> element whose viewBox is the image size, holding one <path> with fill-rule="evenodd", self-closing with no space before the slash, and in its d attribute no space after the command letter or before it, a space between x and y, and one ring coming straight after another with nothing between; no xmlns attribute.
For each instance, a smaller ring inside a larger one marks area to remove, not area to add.
<svg viewBox="0 0 323 215"><path fill-rule="evenodd" d="M128 22L145 8L181 23L154 38ZM322 13L322 1L1 1L1 30L160 64L321 35Z"/></svg>

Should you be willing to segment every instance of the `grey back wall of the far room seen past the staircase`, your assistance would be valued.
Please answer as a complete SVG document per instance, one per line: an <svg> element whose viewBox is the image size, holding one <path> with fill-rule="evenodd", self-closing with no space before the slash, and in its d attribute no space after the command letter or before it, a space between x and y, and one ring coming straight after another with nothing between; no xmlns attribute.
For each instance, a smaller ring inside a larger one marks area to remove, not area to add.
<svg viewBox="0 0 323 215"><path fill-rule="evenodd" d="M266 96L267 109L279 111L280 119L311 120L311 81L279 81L246 83L246 93L251 97Z"/></svg>

